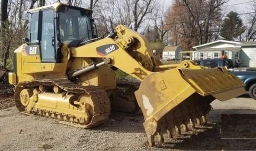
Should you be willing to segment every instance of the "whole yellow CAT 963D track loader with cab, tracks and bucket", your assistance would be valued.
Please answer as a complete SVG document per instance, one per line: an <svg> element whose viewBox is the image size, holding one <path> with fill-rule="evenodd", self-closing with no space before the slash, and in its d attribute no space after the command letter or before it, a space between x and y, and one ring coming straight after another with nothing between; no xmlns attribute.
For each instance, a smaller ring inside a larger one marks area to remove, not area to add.
<svg viewBox="0 0 256 151"><path fill-rule="evenodd" d="M214 99L245 92L225 68L206 69L188 60L162 64L149 42L125 26L97 38L92 10L56 3L27 13L26 44L14 51L14 72L9 73L22 113L90 128L106 122L111 108L134 113L140 106L154 146L155 135L163 142L164 132L172 137L181 127L205 123ZM141 81L139 88L120 85L116 69Z"/></svg>

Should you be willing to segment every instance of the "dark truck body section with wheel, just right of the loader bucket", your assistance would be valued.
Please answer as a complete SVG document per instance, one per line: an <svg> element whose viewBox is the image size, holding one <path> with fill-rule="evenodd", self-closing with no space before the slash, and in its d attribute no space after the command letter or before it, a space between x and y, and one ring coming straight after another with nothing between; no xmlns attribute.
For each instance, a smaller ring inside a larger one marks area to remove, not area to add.
<svg viewBox="0 0 256 151"><path fill-rule="evenodd" d="M249 92L252 99L256 100L256 71L234 71L236 75L244 83L244 88Z"/></svg>

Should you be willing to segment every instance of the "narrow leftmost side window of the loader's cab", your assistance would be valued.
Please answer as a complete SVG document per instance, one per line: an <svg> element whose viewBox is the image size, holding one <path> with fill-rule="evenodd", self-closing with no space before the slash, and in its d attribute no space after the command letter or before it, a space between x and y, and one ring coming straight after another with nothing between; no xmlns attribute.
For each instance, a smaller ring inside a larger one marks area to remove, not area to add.
<svg viewBox="0 0 256 151"><path fill-rule="evenodd" d="M38 12L31 14L29 42L38 42Z"/></svg>

